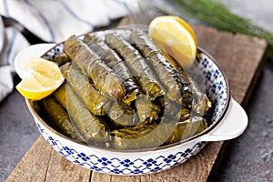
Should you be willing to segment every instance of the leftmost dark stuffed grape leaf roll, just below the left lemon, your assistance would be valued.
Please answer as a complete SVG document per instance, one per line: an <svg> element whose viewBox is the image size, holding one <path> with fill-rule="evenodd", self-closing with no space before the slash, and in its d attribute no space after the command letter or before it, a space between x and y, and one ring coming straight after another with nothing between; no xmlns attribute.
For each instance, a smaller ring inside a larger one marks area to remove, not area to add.
<svg viewBox="0 0 273 182"><path fill-rule="evenodd" d="M77 133L76 128L72 125L66 109L61 106L53 96L47 96L39 101L41 106L41 115L45 117L46 123L52 126L61 134L83 142L82 137Z"/></svg>

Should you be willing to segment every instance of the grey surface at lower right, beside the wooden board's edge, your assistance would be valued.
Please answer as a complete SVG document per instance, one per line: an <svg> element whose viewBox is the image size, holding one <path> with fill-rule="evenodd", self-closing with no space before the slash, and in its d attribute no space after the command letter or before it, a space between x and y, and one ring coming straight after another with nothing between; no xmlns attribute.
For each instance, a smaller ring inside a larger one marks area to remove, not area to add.
<svg viewBox="0 0 273 182"><path fill-rule="evenodd" d="M246 108L248 128L242 136L229 143L217 171L218 182L273 181L272 81L273 63L268 61Z"/></svg>

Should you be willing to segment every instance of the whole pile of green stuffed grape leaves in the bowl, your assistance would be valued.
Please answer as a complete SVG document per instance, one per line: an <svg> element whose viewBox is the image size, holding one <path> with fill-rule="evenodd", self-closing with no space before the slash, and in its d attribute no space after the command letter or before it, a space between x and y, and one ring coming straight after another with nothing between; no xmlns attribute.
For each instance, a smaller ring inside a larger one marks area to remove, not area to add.
<svg viewBox="0 0 273 182"><path fill-rule="evenodd" d="M59 133L96 147L138 149L183 141L209 125L212 103L143 30L70 36L50 59L66 82L35 101Z"/></svg>

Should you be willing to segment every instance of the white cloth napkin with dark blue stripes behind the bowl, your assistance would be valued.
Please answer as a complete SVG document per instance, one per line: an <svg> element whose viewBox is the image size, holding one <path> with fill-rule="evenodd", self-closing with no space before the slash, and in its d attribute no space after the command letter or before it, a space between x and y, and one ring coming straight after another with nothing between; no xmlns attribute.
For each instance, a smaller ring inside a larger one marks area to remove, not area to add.
<svg viewBox="0 0 273 182"><path fill-rule="evenodd" d="M45 42L58 43L126 14L119 0L0 0L5 18L0 18L0 101L14 88L16 54L29 45L24 27Z"/></svg>

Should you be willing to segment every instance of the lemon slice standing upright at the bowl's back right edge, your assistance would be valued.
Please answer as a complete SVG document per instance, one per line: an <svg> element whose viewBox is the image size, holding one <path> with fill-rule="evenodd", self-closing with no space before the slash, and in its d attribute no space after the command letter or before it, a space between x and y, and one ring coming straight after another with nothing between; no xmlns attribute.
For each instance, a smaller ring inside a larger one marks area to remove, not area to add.
<svg viewBox="0 0 273 182"><path fill-rule="evenodd" d="M158 16L150 23L148 34L181 66L191 66L197 55L197 37L184 20L177 16Z"/></svg>

